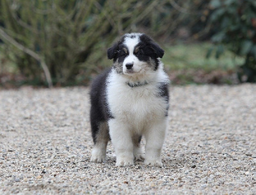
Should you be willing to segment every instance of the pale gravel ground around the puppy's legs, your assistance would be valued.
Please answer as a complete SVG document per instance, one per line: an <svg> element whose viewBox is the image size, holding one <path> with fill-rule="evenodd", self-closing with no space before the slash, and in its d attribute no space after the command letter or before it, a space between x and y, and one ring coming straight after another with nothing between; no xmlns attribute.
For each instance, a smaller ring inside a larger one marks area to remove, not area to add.
<svg viewBox="0 0 256 195"><path fill-rule="evenodd" d="M256 85L170 93L163 168L116 168L111 143L90 162L88 88L1 90L0 194L256 194Z"/></svg>

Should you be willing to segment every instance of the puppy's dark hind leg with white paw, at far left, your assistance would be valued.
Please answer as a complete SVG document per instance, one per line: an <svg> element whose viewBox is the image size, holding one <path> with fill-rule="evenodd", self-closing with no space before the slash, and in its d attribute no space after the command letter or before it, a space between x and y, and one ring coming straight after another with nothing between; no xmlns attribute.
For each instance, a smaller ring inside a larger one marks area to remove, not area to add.
<svg viewBox="0 0 256 195"><path fill-rule="evenodd" d="M97 129L96 129L97 128ZM103 162L106 160L106 150L109 141L108 124L106 121L98 125L92 125L93 149L91 162Z"/></svg>

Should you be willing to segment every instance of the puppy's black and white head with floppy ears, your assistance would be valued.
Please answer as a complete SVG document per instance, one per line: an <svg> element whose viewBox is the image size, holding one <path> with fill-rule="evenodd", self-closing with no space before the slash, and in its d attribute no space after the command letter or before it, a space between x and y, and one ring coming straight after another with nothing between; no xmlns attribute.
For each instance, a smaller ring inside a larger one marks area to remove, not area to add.
<svg viewBox="0 0 256 195"><path fill-rule="evenodd" d="M118 74L138 75L155 71L163 49L152 38L141 33L125 34L108 49L108 59L113 59Z"/></svg>

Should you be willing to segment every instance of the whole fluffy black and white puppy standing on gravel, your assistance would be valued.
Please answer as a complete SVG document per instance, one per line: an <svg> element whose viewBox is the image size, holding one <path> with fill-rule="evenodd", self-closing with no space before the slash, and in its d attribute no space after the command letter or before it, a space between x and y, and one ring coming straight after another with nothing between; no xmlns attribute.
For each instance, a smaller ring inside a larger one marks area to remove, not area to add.
<svg viewBox="0 0 256 195"><path fill-rule="evenodd" d="M163 55L163 49L141 33L125 34L108 49L113 66L92 82L90 91L91 162L106 160L111 139L116 166L145 159L147 165L162 167L169 107L169 79L159 59ZM146 139L145 157L141 136Z"/></svg>

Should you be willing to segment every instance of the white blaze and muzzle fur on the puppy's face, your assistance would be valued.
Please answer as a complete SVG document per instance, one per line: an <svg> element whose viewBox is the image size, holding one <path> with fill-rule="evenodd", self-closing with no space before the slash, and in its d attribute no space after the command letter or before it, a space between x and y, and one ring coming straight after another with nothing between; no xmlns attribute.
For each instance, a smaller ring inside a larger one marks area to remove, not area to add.
<svg viewBox="0 0 256 195"><path fill-rule="evenodd" d="M126 37L124 40L124 44L126 45L129 51L129 55L124 59L124 62L123 62L124 74L137 73L137 72L140 72L141 70L141 63L143 62L140 61L136 56L134 56L134 53L133 53L135 46L138 45L139 42L140 42L140 38L138 35L135 35L134 38ZM132 63L133 67L131 70L128 71L125 65L129 63Z"/></svg>

